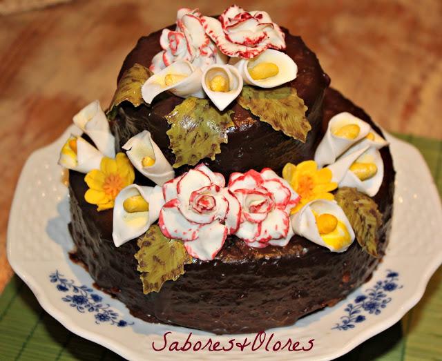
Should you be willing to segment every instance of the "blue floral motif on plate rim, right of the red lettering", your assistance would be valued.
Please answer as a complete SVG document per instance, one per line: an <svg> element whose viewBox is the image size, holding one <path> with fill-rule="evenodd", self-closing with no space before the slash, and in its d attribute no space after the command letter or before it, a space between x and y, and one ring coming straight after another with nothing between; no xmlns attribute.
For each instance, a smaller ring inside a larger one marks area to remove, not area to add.
<svg viewBox="0 0 442 361"><path fill-rule="evenodd" d="M343 315L340 318L341 322L332 329L342 331L354 329L356 324L367 320L368 315L381 313L382 309L385 309L392 300L390 293L402 288L398 285L398 277L399 273L387 270L384 280L376 282L371 289L365 290L365 294L356 296L354 302L347 304L344 309L347 314Z"/></svg>

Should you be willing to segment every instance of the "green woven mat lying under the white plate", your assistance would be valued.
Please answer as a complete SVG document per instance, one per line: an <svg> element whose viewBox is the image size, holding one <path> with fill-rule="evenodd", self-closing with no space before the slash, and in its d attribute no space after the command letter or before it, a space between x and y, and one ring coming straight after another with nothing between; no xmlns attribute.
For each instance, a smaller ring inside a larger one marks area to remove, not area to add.
<svg viewBox="0 0 442 361"><path fill-rule="evenodd" d="M442 194L442 141L396 135L425 157ZM442 360L442 268L430 280L421 302L383 333L340 360ZM0 296L0 360L121 360L65 329L43 311L15 276Z"/></svg>

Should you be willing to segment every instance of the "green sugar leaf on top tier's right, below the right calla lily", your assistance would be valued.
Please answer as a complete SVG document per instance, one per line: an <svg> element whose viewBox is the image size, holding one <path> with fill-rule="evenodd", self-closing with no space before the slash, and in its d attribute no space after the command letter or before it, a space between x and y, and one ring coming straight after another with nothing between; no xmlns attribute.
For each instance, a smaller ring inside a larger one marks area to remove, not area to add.
<svg viewBox="0 0 442 361"><path fill-rule="evenodd" d="M307 106L298 97L296 89L289 86L273 89L257 89L244 86L238 104L251 111L260 121L270 124L274 130L305 143L311 126L305 112Z"/></svg>

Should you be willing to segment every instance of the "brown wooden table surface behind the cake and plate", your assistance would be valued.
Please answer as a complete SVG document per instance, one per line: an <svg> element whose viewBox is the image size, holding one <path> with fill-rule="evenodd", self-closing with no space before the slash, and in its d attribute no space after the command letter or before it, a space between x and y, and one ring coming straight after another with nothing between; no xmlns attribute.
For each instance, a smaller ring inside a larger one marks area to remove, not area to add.
<svg viewBox="0 0 442 361"><path fill-rule="evenodd" d="M217 14L228 1L187 1ZM266 10L316 52L332 86L387 130L442 139L442 1L240 1ZM182 1L74 0L0 19L0 291L5 243L26 158L93 99L109 104L137 39L173 23ZM26 210L26 205L24 207ZM25 213L26 214L26 213ZM26 222L26 217L23 219Z"/></svg>

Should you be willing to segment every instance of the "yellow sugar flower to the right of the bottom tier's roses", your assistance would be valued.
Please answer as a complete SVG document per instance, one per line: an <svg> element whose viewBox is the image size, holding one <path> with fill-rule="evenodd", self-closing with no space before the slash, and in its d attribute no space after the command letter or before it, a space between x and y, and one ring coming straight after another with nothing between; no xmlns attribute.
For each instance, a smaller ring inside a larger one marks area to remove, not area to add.
<svg viewBox="0 0 442 361"><path fill-rule="evenodd" d="M329 192L338 187L336 182L332 182L332 171L329 168L318 170L318 165L313 160L301 162L297 166L287 163L282 169L282 177L301 197L291 213L298 212L302 206L314 199L333 200L334 195Z"/></svg>

